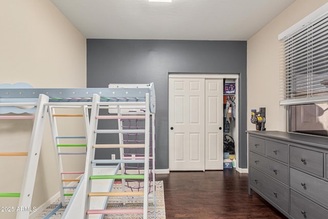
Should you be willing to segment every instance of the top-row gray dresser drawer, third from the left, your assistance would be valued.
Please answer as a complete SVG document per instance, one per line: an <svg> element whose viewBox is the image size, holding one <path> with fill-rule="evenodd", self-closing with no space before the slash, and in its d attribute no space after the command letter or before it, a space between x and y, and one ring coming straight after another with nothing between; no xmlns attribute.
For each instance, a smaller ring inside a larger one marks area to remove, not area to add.
<svg viewBox="0 0 328 219"><path fill-rule="evenodd" d="M291 166L323 176L323 153L303 148L290 147Z"/></svg>

